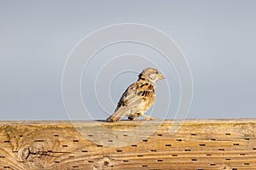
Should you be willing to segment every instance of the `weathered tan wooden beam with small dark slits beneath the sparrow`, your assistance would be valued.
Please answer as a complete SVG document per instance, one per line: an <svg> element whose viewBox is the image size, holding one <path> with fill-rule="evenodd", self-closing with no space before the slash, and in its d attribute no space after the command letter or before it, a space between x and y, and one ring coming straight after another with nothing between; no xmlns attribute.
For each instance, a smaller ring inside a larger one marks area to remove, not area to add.
<svg viewBox="0 0 256 170"><path fill-rule="evenodd" d="M256 169L256 119L187 120L174 134L166 120L137 144L90 141L99 126L122 129L129 141L141 123L0 122L0 169ZM88 139L78 129L89 127Z"/></svg>

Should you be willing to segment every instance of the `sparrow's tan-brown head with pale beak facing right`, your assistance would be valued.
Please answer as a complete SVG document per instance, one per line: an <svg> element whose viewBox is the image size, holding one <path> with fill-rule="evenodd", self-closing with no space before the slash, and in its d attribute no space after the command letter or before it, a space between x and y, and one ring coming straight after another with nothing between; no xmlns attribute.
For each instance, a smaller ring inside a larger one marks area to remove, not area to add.
<svg viewBox="0 0 256 170"><path fill-rule="evenodd" d="M144 69L141 74L139 74L139 79L146 79L148 82L157 82L158 80L165 79L160 71L155 68Z"/></svg>

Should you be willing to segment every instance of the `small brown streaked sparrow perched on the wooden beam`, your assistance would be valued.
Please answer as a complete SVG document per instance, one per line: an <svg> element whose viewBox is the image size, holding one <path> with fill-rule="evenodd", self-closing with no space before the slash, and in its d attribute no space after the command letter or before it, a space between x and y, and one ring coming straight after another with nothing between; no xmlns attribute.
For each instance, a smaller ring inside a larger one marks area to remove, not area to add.
<svg viewBox="0 0 256 170"><path fill-rule="evenodd" d="M156 82L163 79L165 77L157 69L151 67L144 69L138 75L137 82L132 83L122 94L113 115L107 118L107 122L119 122L123 116L128 116L131 121L137 120L138 116L143 116L147 121L157 119L145 113L154 104Z"/></svg>

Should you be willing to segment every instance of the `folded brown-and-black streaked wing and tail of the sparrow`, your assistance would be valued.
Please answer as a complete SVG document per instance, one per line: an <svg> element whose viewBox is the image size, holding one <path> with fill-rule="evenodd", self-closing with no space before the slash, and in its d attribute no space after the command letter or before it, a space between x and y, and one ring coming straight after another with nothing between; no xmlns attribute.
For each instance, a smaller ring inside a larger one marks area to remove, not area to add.
<svg viewBox="0 0 256 170"><path fill-rule="evenodd" d="M152 85L143 82L135 82L125 90L125 93L119 99L117 108L112 116L109 116L108 122L117 122L123 116L135 113L139 109L139 105L144 99L149 99L154 95L154 88Z"/></svg>

